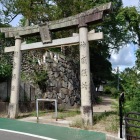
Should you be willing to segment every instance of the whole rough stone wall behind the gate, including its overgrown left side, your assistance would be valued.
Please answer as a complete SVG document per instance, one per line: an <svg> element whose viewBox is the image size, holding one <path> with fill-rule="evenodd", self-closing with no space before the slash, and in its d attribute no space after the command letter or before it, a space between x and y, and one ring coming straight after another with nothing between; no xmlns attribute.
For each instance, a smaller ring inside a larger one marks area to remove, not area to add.
<svg viewBox="0 0 140 140"><path fill-rule="evenodd" d="M62 54L45 50L34 50L23 53L22 71L28 81L34 84L31 77L34 71L47 71L45 90L40 98L57 99L58 106L74 107L80 105L80 66L78 59L72 60ZM34 85L38 89L38 85ZM97 95L91 80L92 100ZM93 97L94 96L94 97ZM94 101L94 100L93 100Z"/></svg>

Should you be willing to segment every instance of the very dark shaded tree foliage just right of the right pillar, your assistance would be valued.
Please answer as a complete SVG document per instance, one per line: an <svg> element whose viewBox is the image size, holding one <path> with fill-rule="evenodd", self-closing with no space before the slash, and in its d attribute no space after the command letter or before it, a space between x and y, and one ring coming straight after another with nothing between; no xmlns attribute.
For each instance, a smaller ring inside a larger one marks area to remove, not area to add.
<svg viewBox="0 0 140 140"><path fill-rule="evenodd" d="M108 47L102 46L102 44L90 47L90 69L93 73L94 84L96 87L102 83L106 83L107 80L111 79L111 63L108 61Z"/></svg>

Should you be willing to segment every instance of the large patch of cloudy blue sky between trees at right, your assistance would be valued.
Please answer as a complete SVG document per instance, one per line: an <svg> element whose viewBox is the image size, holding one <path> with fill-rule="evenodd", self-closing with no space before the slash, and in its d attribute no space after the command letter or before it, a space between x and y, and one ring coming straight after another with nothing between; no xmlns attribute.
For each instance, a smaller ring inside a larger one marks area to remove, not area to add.
<svg viewBox="0 0 140 140"><path fill-rule="evenodd" d="M110 62L112 63L112 67L115 68L117 66L120 67L121 70L124 70L126 67L133 67L135 65L135 46L132 44L127 45L119 50L118 53L114 51L111 53Z"/></svg>

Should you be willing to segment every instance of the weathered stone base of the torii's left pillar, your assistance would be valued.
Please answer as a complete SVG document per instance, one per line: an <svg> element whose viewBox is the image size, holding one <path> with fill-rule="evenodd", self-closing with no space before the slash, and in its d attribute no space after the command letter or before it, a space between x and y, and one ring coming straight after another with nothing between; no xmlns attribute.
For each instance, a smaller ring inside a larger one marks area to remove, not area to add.
<svg viewBox="0 0 140 140"><path fill-rule="evenodd" d="M18 117L18 104L9 103L8 117L11 119L15 119Z"/></svg>

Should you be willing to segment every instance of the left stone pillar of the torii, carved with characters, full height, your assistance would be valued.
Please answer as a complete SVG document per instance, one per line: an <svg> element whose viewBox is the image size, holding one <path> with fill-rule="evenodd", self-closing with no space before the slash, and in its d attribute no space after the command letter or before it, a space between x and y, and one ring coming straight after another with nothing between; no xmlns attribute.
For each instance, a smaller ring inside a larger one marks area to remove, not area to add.
<svg viewBox="0 0 140 140"><path fill-rule="evenodd" d="M19 101L19 82L20 82L20 67L21 67L21 38L15 37L11 96L9 103L9 118L16 118L18 116L18 101Z"/></svg>

